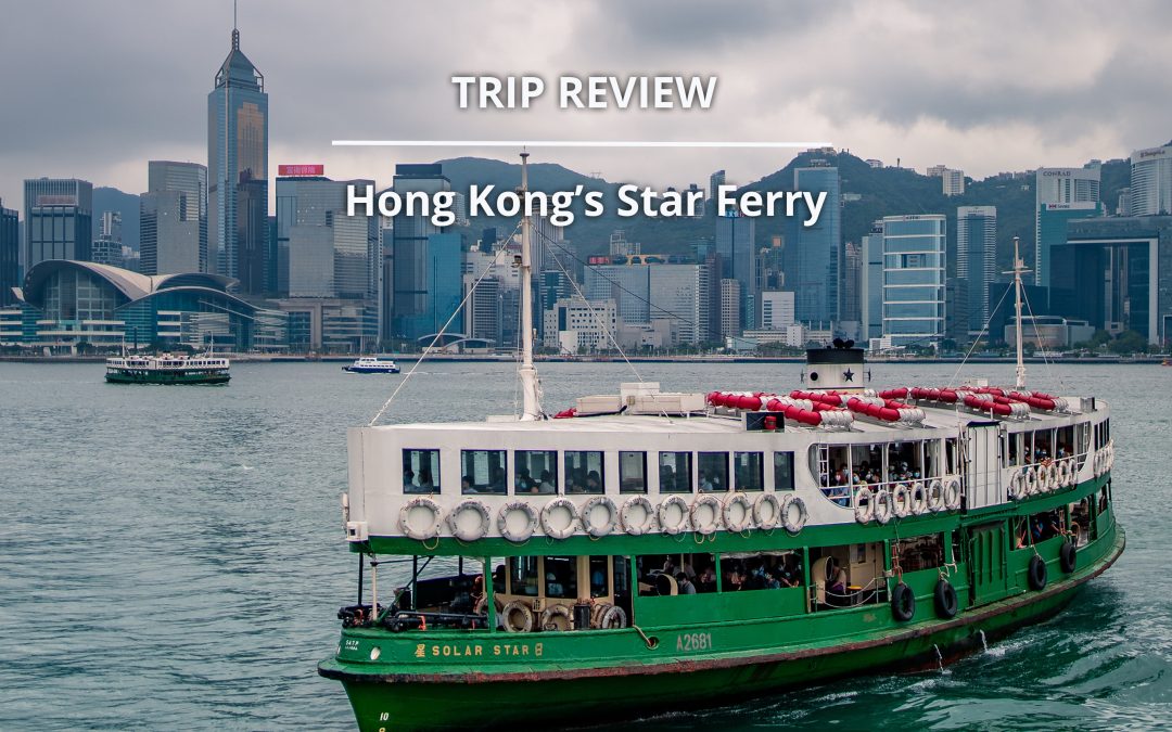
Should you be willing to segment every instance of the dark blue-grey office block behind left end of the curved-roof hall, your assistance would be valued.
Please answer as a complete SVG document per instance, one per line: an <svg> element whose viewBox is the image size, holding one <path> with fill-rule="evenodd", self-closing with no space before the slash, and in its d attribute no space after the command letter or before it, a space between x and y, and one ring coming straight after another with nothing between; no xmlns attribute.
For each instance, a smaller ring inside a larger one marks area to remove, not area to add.
<svg viewBox="0 0 1172 732"><path fill-rule="evenodd" d="M46 259L89 261L94 185L76 178L25 180L25 272Z"/></svg>

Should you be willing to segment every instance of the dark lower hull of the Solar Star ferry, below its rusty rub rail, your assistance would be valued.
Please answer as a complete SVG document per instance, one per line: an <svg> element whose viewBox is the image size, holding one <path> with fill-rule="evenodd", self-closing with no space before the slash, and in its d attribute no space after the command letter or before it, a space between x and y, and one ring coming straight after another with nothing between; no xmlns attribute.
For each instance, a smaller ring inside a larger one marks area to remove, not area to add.
<svg viewBox="0 0 1172 732"><path fill-rule="evenodd" d="M495 728L534 721L587 726L718 705L847 675L935 668L980 650L987 641L1061 611L1122 554L1122 529L1105 539L1105 550L1090 566L1042 591L969 608L950 621L915 623L857 641L844 637L820 648L605 669L573 669L565 663L527 673L470 670L451 675L450 680L440 675L363 673L334 659L322 662L319 672L342 682L359 727L372 731Z"/></svg>

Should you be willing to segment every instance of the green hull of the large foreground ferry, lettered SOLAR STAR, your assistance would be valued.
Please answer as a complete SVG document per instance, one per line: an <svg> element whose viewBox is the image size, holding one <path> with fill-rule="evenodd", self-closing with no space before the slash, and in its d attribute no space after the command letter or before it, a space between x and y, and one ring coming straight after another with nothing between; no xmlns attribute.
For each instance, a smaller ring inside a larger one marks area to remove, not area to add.
<svg viewBox="0 0 1172 732"><path fill-rule="evenodd" d="M1058 613L1122 554L1123 531L1113 516L1104 524L1098 539L1079 549L1071 574L1058 567L1057 543L1040 545L1050 574L1042 590L1029 590L1024 580L1031 549L1007 557L1010 577L995 601L970 600L962 568L953 580L965 600L952 620L934 615L925 589L936 580L931 570L918 573L931 576L905 576L919 601L908 623L897 623L890 608L878 604L645 631L349 629L338 656L322 662L319 672L342 682L362 730L466 730L534 721L590 725L677 710L682 699L694 706L720 704L730 695L743 698L838 676L934 668Z"/></svg>

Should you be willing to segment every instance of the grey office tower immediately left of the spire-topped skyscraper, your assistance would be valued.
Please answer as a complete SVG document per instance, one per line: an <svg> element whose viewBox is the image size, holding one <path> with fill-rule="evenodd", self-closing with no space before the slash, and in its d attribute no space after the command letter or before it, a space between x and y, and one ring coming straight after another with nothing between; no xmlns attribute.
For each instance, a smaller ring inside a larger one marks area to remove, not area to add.
<svg viewBox="0 0 1172 732"><path fill-rule="evenodd" d="M207 272L207 169L148 162L138 230L143 274Z"/></svg>

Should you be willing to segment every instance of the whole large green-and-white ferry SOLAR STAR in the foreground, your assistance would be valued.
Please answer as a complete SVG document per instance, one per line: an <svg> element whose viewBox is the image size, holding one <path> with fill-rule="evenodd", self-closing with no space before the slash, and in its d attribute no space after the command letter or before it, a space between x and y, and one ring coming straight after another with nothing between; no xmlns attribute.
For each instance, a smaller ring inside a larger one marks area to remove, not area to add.
<svg viewBox="0 0 1172 732"><path fill-rule="evenodd" d="M1023 368L874 390L838 343L800 390L631 383L547 418L531 338L519 416L348 432L357 596L318 670L361 730L588 726L935 668L1124 549L1109 405Z"/></svg>

